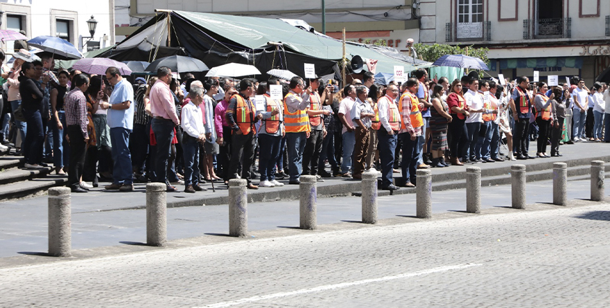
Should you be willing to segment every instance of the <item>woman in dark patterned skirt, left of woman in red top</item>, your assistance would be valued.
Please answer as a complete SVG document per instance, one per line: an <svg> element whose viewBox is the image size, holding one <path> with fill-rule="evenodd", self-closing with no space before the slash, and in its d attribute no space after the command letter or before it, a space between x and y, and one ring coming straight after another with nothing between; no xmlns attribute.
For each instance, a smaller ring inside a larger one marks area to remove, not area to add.
<svg viewBox="0 0 610 308"><path fill-rule="evenodd" d="M443 102L442 96L445 89L441 84L435 84L432 91L432 106L430 108L430 131L432 132L432 167L447 167L443 153L449 149L447 145L448 123L453 121L451 114L448 114L449 107Z"/></svg>

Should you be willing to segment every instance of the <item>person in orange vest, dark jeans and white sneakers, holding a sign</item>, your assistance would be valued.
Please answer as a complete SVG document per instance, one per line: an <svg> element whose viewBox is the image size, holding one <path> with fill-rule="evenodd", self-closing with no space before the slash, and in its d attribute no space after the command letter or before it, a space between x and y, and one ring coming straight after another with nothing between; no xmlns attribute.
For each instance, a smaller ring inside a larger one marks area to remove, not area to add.
<svg viewBox="0 0 610 308"><path fill-rule="evenodd" d="M261 114L263 118L259 129L259 172L261 173L259 187L284 186L275 179L275 163L279 157L281 138L286 134L284 102L271 98L269 91L271 85L279 85L279 80L270 79L269 82L261 82L256 91L265 100L263 109L256 110L256 114Z"/></svg>

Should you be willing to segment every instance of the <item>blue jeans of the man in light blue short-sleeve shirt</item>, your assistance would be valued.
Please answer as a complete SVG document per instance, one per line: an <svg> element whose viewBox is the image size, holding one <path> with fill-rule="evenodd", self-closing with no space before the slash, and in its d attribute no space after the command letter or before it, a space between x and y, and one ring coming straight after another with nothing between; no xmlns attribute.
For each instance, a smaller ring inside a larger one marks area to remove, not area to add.
<svg viewBox="0 0 610 308"><path fill-rule="evenodd" d="M131 185L133 174L131 167L131 154L129 152L129 135L131 129L123 127L110 128L110 143L112 143L112 183L118 185Z"/></svg>

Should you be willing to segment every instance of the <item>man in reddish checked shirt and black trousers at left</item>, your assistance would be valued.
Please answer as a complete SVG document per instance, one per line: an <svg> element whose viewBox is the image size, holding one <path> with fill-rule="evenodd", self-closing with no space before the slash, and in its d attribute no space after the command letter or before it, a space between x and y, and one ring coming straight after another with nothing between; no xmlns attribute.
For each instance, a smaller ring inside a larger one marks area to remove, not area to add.
<svg viewBox="0 0 610 308"><path fill-rule="evenodd" d="M72 82L76 87L67 93L64 99L68 141L70 143L70 165L67 186L72 192L87 192L80 187L80 176L85 167L85 150L89 135L87 134L87 99L83 94L89 88L89 78L78 74Z"/></svg>

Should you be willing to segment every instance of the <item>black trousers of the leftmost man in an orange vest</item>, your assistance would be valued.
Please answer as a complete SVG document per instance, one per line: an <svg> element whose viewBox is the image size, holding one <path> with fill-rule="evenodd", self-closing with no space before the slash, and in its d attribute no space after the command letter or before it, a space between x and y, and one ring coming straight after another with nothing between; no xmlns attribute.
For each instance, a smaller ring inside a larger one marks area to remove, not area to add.
<svg viewBox="0 0 610 308"><path fill-rule="evenodd" d="M223 132L224 133L224 132ZM252 183L252 164L254 163L254 148L256 147L256 137L254 132L247 135L233 134L231 137L231 163L229 163L229 179L237 179L237 170L243 158L241 168L241 178Z"/></svg>

